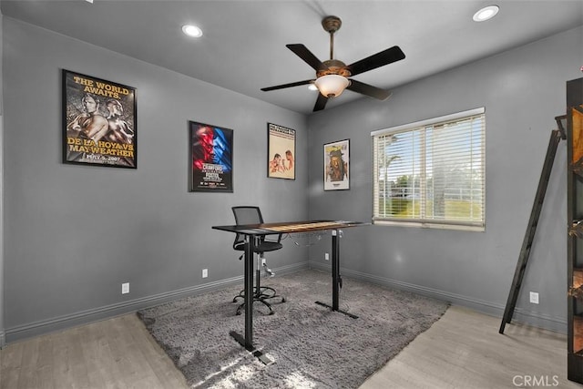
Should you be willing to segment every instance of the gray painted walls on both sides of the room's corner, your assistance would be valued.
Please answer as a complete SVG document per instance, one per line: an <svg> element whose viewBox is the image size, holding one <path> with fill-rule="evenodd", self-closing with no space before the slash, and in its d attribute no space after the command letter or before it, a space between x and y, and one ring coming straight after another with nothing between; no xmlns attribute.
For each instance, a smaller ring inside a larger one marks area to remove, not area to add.
<svg viewBox="0 0 583 389"><path fill-rule="evenodd" d="M554 117L565 112L565 82L581 77L583 57L578 28L399 87L387 102L363 99L306 120L13 19L2 27L0 334L8 342L240 282L232 237L210 229L232 222L233 205L258 204L267 220L370 220L370 132L474 107L486 107L486 231L344 230L343 274L501 316ZM61 163L61 68L137 87L138 169ZM235 193L188 192L188 120L235 130ZM265 177L267 122L297 129L293 181ZM323 192L322 145L344 138L351 189ZM559 331L567 312L565 146L516 316ZM286 244L270 264L293 271L309 257L326 268L329 241L309 250ZM131 284L127 295L122 282ZM527 302L528 291L540 293L539 305Z"/></svg>

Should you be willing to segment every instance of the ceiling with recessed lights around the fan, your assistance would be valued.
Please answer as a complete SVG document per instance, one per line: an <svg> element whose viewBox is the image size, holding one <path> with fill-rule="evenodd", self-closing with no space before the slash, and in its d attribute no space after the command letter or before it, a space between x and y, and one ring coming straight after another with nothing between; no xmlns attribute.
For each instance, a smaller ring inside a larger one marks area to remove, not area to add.
<svg viewBox="0 0 583 389"><path fill-rule="evenodd" d="M500 6L494 19L472 20L491 4ZM583 25L582 0L2 0L0 6L5 16L305 114L317 92L260 88L315 78L285 45L303 44L329 59L325 15L343 20L334 56L346 64L401 47L404 60L354 77L389 89ZM204 35L184 36L184 24L199 25ZM347 90L326 107L357 98L391 101Z"/></svg>

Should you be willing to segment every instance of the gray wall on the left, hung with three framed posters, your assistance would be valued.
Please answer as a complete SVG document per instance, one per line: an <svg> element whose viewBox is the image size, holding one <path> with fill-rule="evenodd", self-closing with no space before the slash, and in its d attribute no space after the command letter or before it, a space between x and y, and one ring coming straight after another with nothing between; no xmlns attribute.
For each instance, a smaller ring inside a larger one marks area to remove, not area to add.
<svg viewBox="0 0 583 389"><path fill-rule="evenodd" d="M234 236L210 228L231 206L307 217L303 115L7 17L3 41L7 342L240 282ZM137 88L138 169L61 163L62 68ZM234 193L189 193L189 120L234 130ZM266 177L267 122L297 130L295 180ZM307 250L270 265L307 266Z"/></svg>

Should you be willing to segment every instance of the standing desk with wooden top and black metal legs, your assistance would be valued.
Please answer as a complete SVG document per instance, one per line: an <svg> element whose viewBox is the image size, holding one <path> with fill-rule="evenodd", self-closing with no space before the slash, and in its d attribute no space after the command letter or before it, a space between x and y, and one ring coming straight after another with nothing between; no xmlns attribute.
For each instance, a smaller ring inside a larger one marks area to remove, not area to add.
<svg viewBox="0 0 583 389"><path fill-rule="evenodd" d="M357 316L352 313L343 312L338 309L340 298L340 287L342 279L340 277L340 241L341 229L356 227L364 223L356 221L332 221L332 220L315 220L315 221L289 221L283 223L263 223L248 225L231 225L231 226L213 226L214 230L223 230L240 233L245 235L245 271L244 271L244 290L245 290L245 334L241 336L235 331L230 332L230 336L235 338L241 346L253 353L262 363L270 364L271 361L265 354L253 346L253 252L255 249L255 240L259 236L274 235L280 233L310 232L316 230L332 230L332 306L323 302L317 304L331 308L332 311L342 312L354 319Z"/></svg>

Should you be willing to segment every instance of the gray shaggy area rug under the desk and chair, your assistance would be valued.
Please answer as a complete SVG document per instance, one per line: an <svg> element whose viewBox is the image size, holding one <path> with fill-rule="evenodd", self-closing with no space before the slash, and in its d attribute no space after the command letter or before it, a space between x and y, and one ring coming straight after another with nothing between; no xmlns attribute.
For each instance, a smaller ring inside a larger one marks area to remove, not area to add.
<svg viewBox="0 0 583 389"><path fill-rule="evenodd" d="M446 302L343 277L340 309L332 304L332 276L299 271L262 283L286 302L274 314L257 302L253 343L275 361L264 365L233 338L244 314L233 297L241 287L169 302L138 312L193 388L357 388L447 309Z"/></svg>

